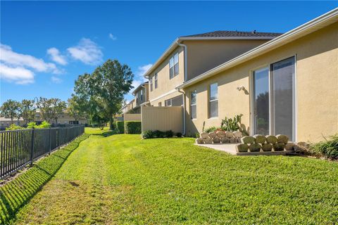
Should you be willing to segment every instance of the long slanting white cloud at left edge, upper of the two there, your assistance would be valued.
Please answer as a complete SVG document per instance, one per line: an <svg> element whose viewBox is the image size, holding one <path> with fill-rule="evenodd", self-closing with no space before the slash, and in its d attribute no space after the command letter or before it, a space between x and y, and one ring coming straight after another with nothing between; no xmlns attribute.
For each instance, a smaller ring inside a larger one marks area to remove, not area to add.
<svg viewBox="0 0 338 225"><path fill-rule="evenodd" d="M1 54L0 61L6 65L21 68L32 68L38 72L53 72L60 73L54 63L46 63L40 58L14 52L10 46L0 44Z"/></svg>

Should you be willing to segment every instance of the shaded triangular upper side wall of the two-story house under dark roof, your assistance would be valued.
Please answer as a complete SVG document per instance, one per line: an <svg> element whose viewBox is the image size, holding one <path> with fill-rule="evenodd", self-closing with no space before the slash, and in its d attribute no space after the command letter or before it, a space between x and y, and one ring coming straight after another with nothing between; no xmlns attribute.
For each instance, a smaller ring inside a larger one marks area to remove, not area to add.
<svg viewBox="0 0 338 225"><path fill-rule="evenodd" d="M187 45L187 79L192 79L240 54L269 41L268 39L226 39L184 41Z"/></svg>

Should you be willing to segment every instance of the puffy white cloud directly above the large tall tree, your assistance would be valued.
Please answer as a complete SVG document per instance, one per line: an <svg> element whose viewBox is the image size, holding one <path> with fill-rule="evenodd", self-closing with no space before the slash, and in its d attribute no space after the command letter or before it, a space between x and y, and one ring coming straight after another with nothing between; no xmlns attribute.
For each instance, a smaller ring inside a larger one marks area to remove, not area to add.
<svg viewBox="0 0 338 225"><path fill-rule="evenodd" d="M77 46L70 47L67 51L75 60L80 60L82 63L88 65L101 63L104 56L101 47L91 39L87 38L82 38Z"/></svg>

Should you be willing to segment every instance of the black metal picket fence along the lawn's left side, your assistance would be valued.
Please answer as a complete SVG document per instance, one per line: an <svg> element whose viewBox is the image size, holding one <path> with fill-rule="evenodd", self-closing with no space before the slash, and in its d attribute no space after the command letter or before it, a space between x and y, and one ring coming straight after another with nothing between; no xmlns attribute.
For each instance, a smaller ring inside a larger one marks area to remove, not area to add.
<svg viewBox="0 0 338 225"><path fill-rule="evenodd" d="M0 179L84 133L84 126L0 131Z"/></svg>

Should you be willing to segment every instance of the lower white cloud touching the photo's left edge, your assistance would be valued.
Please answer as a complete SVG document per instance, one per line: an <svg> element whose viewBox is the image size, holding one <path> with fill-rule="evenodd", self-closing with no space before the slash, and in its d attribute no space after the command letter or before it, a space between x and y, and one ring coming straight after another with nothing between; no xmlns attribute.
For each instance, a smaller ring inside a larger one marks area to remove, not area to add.
<svg viewBox="0 0 338 225"><path fill-rule="evenodd" d="M34 72L20 67L11 68L3 63L0 64L0 77L15 84L34 83Z"/></svg>

